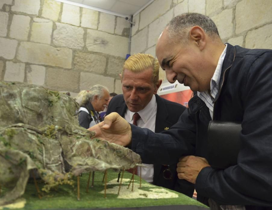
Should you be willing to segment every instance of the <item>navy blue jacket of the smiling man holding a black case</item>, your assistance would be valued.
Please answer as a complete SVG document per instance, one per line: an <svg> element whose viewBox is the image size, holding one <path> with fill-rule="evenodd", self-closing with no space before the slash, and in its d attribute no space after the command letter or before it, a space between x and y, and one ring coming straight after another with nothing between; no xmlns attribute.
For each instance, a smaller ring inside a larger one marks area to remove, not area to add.
<svg viewBox="0 0 272 210"><path fill-rule="evenodd" d="M146 163L171 164L182 155L207 158L210 120L208 107L194 96L177 124L163 134L131 125L131 149ZM228 44L214 120L242 122L241 149L237 165L201 170L195 183L198 200L252 205L249 209L272 206L272 50Z"/></svg>

